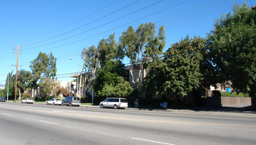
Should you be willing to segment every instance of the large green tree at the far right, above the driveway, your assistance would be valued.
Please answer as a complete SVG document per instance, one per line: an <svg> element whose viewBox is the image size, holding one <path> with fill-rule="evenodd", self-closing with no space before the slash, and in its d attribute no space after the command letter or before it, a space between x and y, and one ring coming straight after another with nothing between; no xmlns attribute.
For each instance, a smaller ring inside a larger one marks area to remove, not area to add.
<svg viewBox="0 0 256 145"><path fill-rule="evenodd" d="M256 98L256 11L246 3L234 5L208 34L209 61L220 74L219 82L231 80L236 92ZM252 102L252 105L253 104Z"/></svg>

